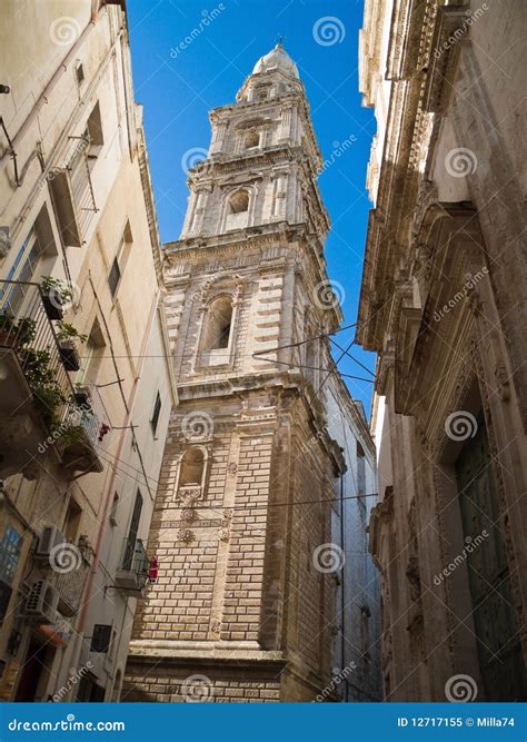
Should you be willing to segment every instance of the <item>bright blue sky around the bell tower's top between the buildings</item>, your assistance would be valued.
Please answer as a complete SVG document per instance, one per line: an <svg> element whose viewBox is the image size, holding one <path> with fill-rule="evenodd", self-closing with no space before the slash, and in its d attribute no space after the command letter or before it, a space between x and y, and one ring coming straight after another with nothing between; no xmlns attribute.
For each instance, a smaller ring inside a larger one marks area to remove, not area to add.
<svg viewBox="0 0 527 742"><path fill-rule="evenodd" d="M376 129L372 110L361 107L358 92L362 1L128 0L128 13L136 99L145 106L163 241L180 235L188 196L181 160L189 150L208 148L208 111L235 102L258 58L275 46L278 34L285 37L285 48L306 86L322 157L334 160L319 177L332 222L326 258L330 278L344 287L345 324L355 323L371 208L366 168ZM205 17L211 19L208 24L200 23ZM195 29L199 32L182 48ZM340 157L332 155L336 150ZM352 337L349 329L335 339L346 347ZM372 354L358 346L350 352L374 368ZM340 352L336 353L338 358ZM347 356L339 368L344 374L371 377ZM346 380L369 416L372 385Z"/></svg>

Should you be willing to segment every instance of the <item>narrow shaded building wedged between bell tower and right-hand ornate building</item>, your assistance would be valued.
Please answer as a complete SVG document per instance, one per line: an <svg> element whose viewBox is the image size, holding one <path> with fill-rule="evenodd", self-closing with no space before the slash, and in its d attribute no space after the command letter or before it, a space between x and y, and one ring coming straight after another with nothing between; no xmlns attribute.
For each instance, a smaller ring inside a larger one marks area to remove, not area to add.
<svg viewBox="0 0 527 742"><path fill-rule="evenodd" d="M368 524L377 502L375 446L361 403L338 374L326 386L327 429L340 449L345 472L335 482L331 542L341 550L336 592L332 680L344 702L380 701L380 584L368 550Z"/></svg>

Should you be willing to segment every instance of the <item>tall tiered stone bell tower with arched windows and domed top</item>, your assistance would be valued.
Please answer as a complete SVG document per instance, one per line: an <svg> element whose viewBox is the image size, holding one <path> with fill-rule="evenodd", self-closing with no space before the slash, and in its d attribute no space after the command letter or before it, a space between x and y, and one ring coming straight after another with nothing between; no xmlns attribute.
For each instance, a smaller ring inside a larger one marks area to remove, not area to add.
<svg viewBox="0 0 527 742"><path fill-rule="evenodd" d="M280 44L210 120L165 249L179 406L122 700L310 701L330 682L336 583L320 554L344 466L320 388L341 319L321 158Z"/></svg>

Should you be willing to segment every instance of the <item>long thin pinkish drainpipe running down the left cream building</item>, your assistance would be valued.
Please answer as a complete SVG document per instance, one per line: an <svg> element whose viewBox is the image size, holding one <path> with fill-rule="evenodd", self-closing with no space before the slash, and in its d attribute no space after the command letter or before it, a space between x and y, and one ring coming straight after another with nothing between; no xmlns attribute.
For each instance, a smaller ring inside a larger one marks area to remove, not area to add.
<svg viewBox="0 0 527 742"><path fill-rule="evenodd" d="M90 276L90 283L91 283L93 294L97 297L97 293L96 293L91 276ZM132 414L132 410L133 410L133 406L136 404L136 397L137 397L137 393L138 393L138 389L139 389L139 380L141 378L141 370L142 370L142 366L145 364L145 356L146 356L147 345L148 345L148 340L150 339L150 335L151 335L153 321L155 321L155 318L156 318L160 295L161 295L161 291L158 290L155 298L153 298L152 306L150 308L148 324L147 324L147 328L146 328L146 332L145 332L145 337L143 337L142 345L141 345L141 353L140 353L140 357L139 357L139 366L138 366L138 369L137 369L137 373L136 373L136 378L133 379L133 386L132 386L131 395L130 395L129 403L128 403L128 409L127 409L127 414L126 414L125 422L123 422L123 425L122 425L123 429L121 432L121 437L119 439L119 445L117 447L117 452L116 452L116 455L115 455L115 463L112 465L112 473L111 473L111 477L110 477L110 483L108 485L108 494L107 494L107 498L106 498L106 503L105 503L105 508L103 508L103 512L102 512L102 521L101 521L101 524L100 524L100 527L99 527L99 533L97 535L97 543L96 543L95 554L93 554L93 563L91 565L90 574L88 576L88 585L86 587L86 594L84 594L84 598L82 601L82 610L81 610L80 617L79 617L79 623L78 623L78 626L77 626L77 630L76 630L77 646L76 646L76 651L73 653L73 662L72 662L73 667L77 667L78 662L79 662L79 656L80 656L81 646L82 646L82 639L83 639L82 634L83 634L83 629L84 629L86 619L87 619L87 614L88 614L88 605L89 605L91 596L92 596L93 581L95 581L95 577L96 577L98 566L99 566L99 555L100 555L100 551L101 551L102 540L103 540L103 536L105 536L105 533L106 533L106 530L107 530L108 512L110 509L110 503L112 502L112 498L113 498L113 487L115 487L115 483L116 483L116 478L117 478L117 465L118 465L118 463L120 461L120 457L121 457L121 453L122 453L122 448L125 446L125 439L126 439L127 433L129 432L129 425L130 425L130 422L131 422L131 414Z"/></svg>

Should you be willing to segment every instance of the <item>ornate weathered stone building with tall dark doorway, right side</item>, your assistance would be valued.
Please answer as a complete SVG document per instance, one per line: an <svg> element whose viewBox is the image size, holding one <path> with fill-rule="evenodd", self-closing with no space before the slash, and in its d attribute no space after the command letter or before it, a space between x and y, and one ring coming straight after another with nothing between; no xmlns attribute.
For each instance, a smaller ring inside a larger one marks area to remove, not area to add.
<svg viewBox="0 0 527 742"><path fill-rule="evenodd" d="M526 28L515 0L366 2L387 700L527 694Z"/></svg>

